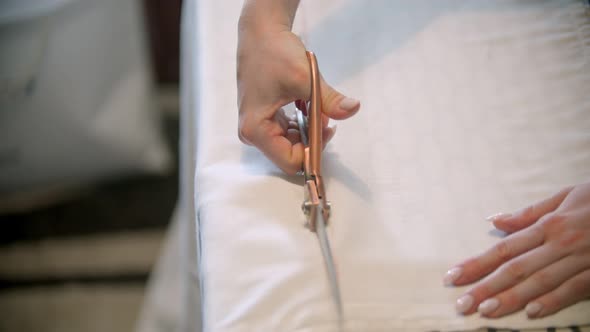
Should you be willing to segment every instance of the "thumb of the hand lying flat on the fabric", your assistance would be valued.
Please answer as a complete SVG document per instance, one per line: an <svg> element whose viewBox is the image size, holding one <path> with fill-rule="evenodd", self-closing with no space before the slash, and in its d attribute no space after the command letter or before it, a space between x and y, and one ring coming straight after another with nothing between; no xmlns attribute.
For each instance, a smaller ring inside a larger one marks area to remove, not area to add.
<svg viewBox="0 0 590 332"><path fill-rule="evenodd" d="M514 233L534 224L547 213L555 211L573 187L568 187L548 199L530 205L514 214L499 213L488 217L494 226L504 232Z"/></svg>

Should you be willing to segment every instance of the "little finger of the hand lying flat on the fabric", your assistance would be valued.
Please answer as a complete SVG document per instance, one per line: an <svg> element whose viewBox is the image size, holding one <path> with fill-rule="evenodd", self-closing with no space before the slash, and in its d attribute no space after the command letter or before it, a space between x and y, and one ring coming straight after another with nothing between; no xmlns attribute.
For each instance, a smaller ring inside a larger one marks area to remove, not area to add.
<svg viewBox="0 0 590 332"><path fill-rule="evenodd" d="M554 291L527 304L525 311L530 318L541 318L589 297L590 269L587 269L564 282Z"/></svg>

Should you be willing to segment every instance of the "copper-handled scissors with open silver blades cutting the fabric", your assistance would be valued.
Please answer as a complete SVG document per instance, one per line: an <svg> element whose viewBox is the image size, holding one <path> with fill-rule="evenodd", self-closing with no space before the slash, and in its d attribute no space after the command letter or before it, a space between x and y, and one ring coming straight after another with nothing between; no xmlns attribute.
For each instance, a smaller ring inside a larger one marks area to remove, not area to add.
<svg viewBox="0 0 590 332"><path fill-rule="evenodd" d="M297 101L297 124L301 142L305 146L302 174L304 176L304 199L301 209L307 220L307 227L317 234L332 298L336 305L338 318L342 323L342 300L336 275L336 266L328 241L326 227L330 219L330 202L326 196L322 179L322 98L320 92L320 73L315 54L306 51L311 69L311 97L309 102Z"/></svg>

